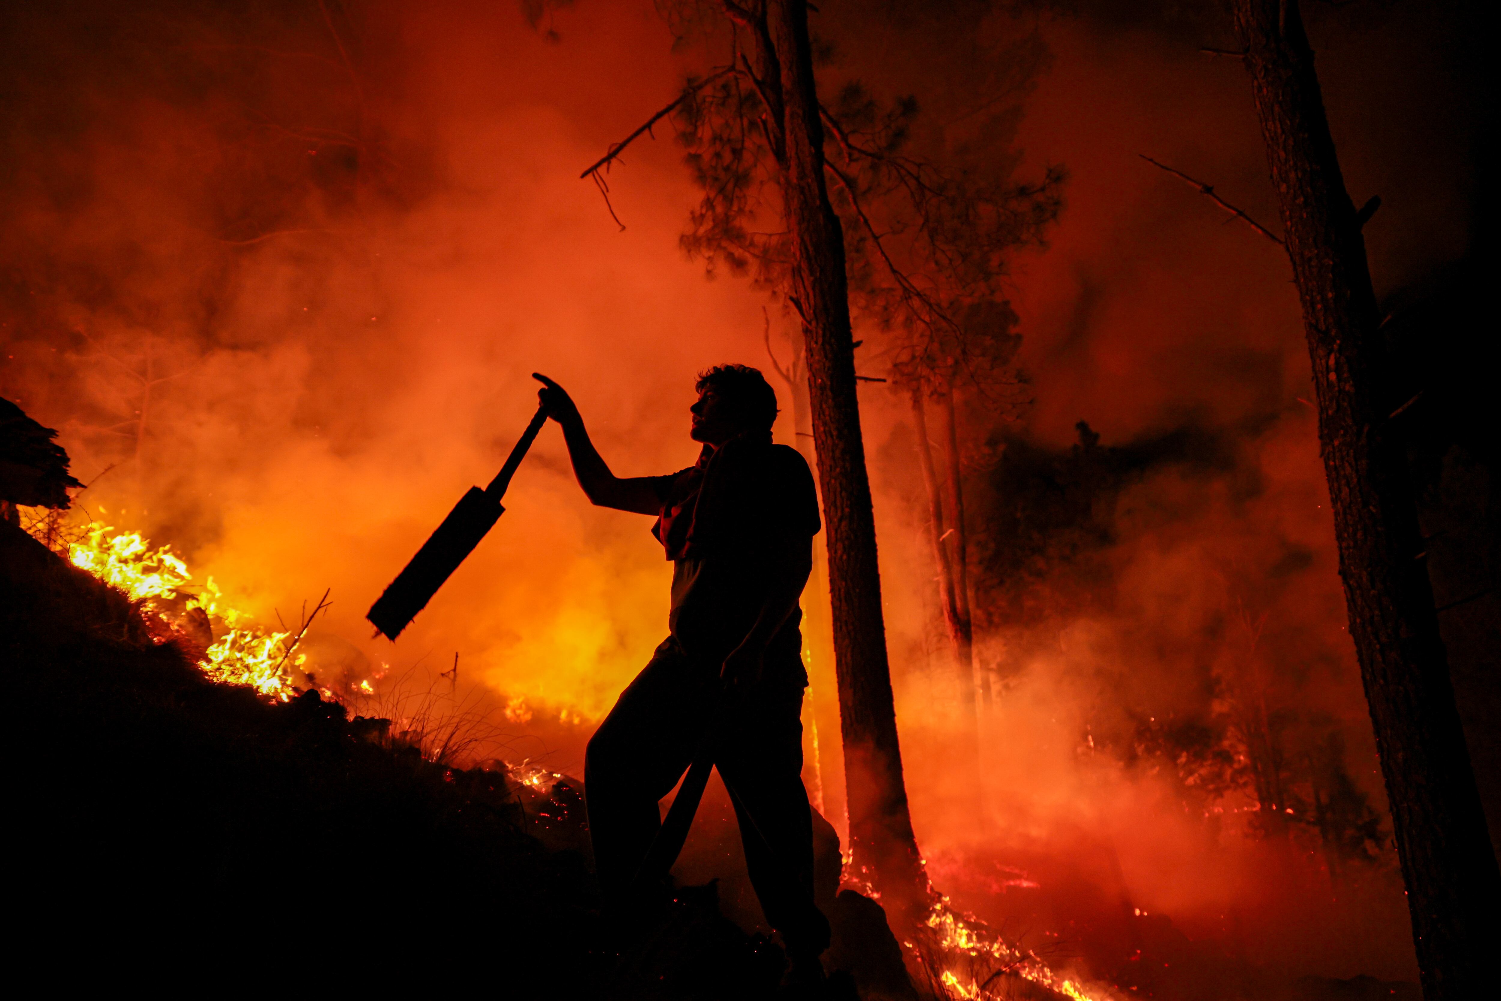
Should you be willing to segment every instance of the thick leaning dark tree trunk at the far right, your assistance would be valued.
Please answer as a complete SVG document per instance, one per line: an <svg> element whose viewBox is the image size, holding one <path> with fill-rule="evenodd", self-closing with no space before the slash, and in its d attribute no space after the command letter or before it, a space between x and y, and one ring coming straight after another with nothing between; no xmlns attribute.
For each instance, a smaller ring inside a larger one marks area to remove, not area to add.
<svg viewBox="0 0 1501 1001"><path fill-rule="evenodd" d="M1481 996L1501 878L1454 707L1405 455L1381 392L1361 216L1295 0L1235 0L1318 393L1349 635L1429 1001Z"/></svg>

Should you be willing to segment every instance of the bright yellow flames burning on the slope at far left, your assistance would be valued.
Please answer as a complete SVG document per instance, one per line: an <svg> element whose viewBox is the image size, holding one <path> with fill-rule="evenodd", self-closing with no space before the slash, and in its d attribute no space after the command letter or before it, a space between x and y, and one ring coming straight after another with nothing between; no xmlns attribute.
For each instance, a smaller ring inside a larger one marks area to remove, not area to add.
<svg viewBox="0 0 1501 1001"><path fill-rule="evenodd" d="M38 518L27 530L47 542L45 518ZM209 578L203 587L189 594L185 587L192 581L188 564L171 552L171 546L152 549L138 531L116 531L102 522L90 522L81 536L66 545L68 560L81 570L116 587L131 600L141 603L149 620L156 620L164 629L153 630L158 642L186 636L185 623L194 617L209 626L227 629L203 650L198 666L215 681L245 684L269 699L288 701L293 687L291 669L306 657L294 654L296 641L290 632L269 632L258 626L242 626L248 618L243 612L224 603L224 594ZM185 599L183 611L174 614L168 603ZM210 636L212 638L212 636ZM366 683L368 684L368 683Z"/></svg>

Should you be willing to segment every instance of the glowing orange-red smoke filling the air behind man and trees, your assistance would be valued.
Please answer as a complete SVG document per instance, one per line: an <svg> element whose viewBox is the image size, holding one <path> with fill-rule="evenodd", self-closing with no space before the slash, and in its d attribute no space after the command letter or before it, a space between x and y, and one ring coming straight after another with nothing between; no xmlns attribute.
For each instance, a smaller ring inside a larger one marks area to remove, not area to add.
<svg viewBox="0 0 1501 1001"><path fill-rule="evenodd" d="M1289 974L1415 977L1388 837L1331 873L1318 830L1265 830L1234 777L1273 734L1289 761L1337 758L1289 776L1351 783L1388 827L1286 260L1138 158L1277 228L1244 74L1198 53L1229 47L1225 18L977 8L967 44L995 65L967 72L1004 99L961 119L958 21L824 6L832 77L914 93L956 132L1003 129L1019 176L1070 177L1049 246L1013 263L1031 402L964 417L997 689L983 779L950 761L910 420L880 387L862 398L935 881L1024 930L1141 936L1132 921L1160 914ZM498 468L530 372L575 395L615 473L656 474L696 456L695 372L767 368L764 333L784 350L788 327L680 254L698 192L666 123L608 174L624 231L578 179L704 53L674 50L650 3L539 11L534 27L518 5L12 5L0 393L60 429L96 480L83 509L171 542L231 603L273 621L330 588L320 683L453 692L486 753L581 770L662 638L669 564L647 519L587 504L555 428L399 644L363 612ZM1312 30L1346 183L1384 200L1366 234L1387 293L1471 249L1472 80L1447 14L1360 17ZM881 374L883 333L862 335ZM820 653L812 698L830 699ZM723 857L693 875L740 878ZM743 887L728 900L758 920Z"/></svg>

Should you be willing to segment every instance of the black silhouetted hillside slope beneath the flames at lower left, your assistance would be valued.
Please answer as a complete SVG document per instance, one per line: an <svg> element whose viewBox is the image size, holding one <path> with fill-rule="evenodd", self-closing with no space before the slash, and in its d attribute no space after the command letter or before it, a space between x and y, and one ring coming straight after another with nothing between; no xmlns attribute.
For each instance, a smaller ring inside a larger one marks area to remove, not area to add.
<svg viewBox="0 0 1501 1001"><path fill-rule="evenodd" d="M779 996L781 948L722 917L711 885L635 915L621 954L569 846L570 788L539 809L504 771L431 764L315 693L269 705L213 684L123 594L5 522L0 665L12 956L39 983ZM548 843L528 833L539 812ZM856 966L872 932L896 947L877 920L847 929Z"/></svg>

